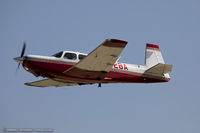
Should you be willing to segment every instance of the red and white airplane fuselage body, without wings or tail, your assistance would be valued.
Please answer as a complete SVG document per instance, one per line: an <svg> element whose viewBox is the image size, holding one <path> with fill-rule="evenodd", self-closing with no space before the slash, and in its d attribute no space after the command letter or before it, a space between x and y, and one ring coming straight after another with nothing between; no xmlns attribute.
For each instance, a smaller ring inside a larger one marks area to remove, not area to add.
<svg viewBox="0 0 200 133"><path fill-rule="evenodd" d="M72 51L65 51L72 52ZM78 52L73 52L79 54ZM84 54L86 55L86 54ZM80 82L80 83L155 83L155 82L168 82L169 76L163 77L156 75L145 74L146 66L126 64L116 62L112 69L108 72L104 79L92 79L85 77L84 79L78 78L73 75L63 74L64 71L70 69L79 60L69 60L64 58L56 58L53 56L38 56L27 55L23 62L25 70L31 72L35 76L42 76L53 78L66 82Z"/></svg>

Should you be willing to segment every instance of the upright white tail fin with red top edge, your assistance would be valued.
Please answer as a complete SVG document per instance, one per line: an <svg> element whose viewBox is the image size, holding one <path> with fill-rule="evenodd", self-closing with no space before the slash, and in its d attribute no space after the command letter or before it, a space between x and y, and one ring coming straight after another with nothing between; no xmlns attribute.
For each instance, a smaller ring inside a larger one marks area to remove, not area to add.
<svg viewBox="0 0 200 133"><path fill-rule="evenodd" d="M165 64L159 46L147 43L145 53L145 65L147 66L147 68L151 68L158 63Z"/></svg>

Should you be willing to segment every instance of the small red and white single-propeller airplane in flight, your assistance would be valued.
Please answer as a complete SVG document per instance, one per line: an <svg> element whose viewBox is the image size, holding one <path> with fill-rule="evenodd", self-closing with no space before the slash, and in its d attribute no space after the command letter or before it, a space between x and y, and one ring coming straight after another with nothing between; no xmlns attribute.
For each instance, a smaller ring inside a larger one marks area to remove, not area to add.
<svg viewBox="0 0 200 133"><path fill-rule="evenodd" d="M14 58L34 76L46 79L25 83L36 87L62 87L106 83L158 83L168 82L171 64L165 64L160 48L146 44L145 65L118 62L119 55L128 42L106 39L89 54L61 51L52 56L24 56L24 42L21 56Z"/></svg>

